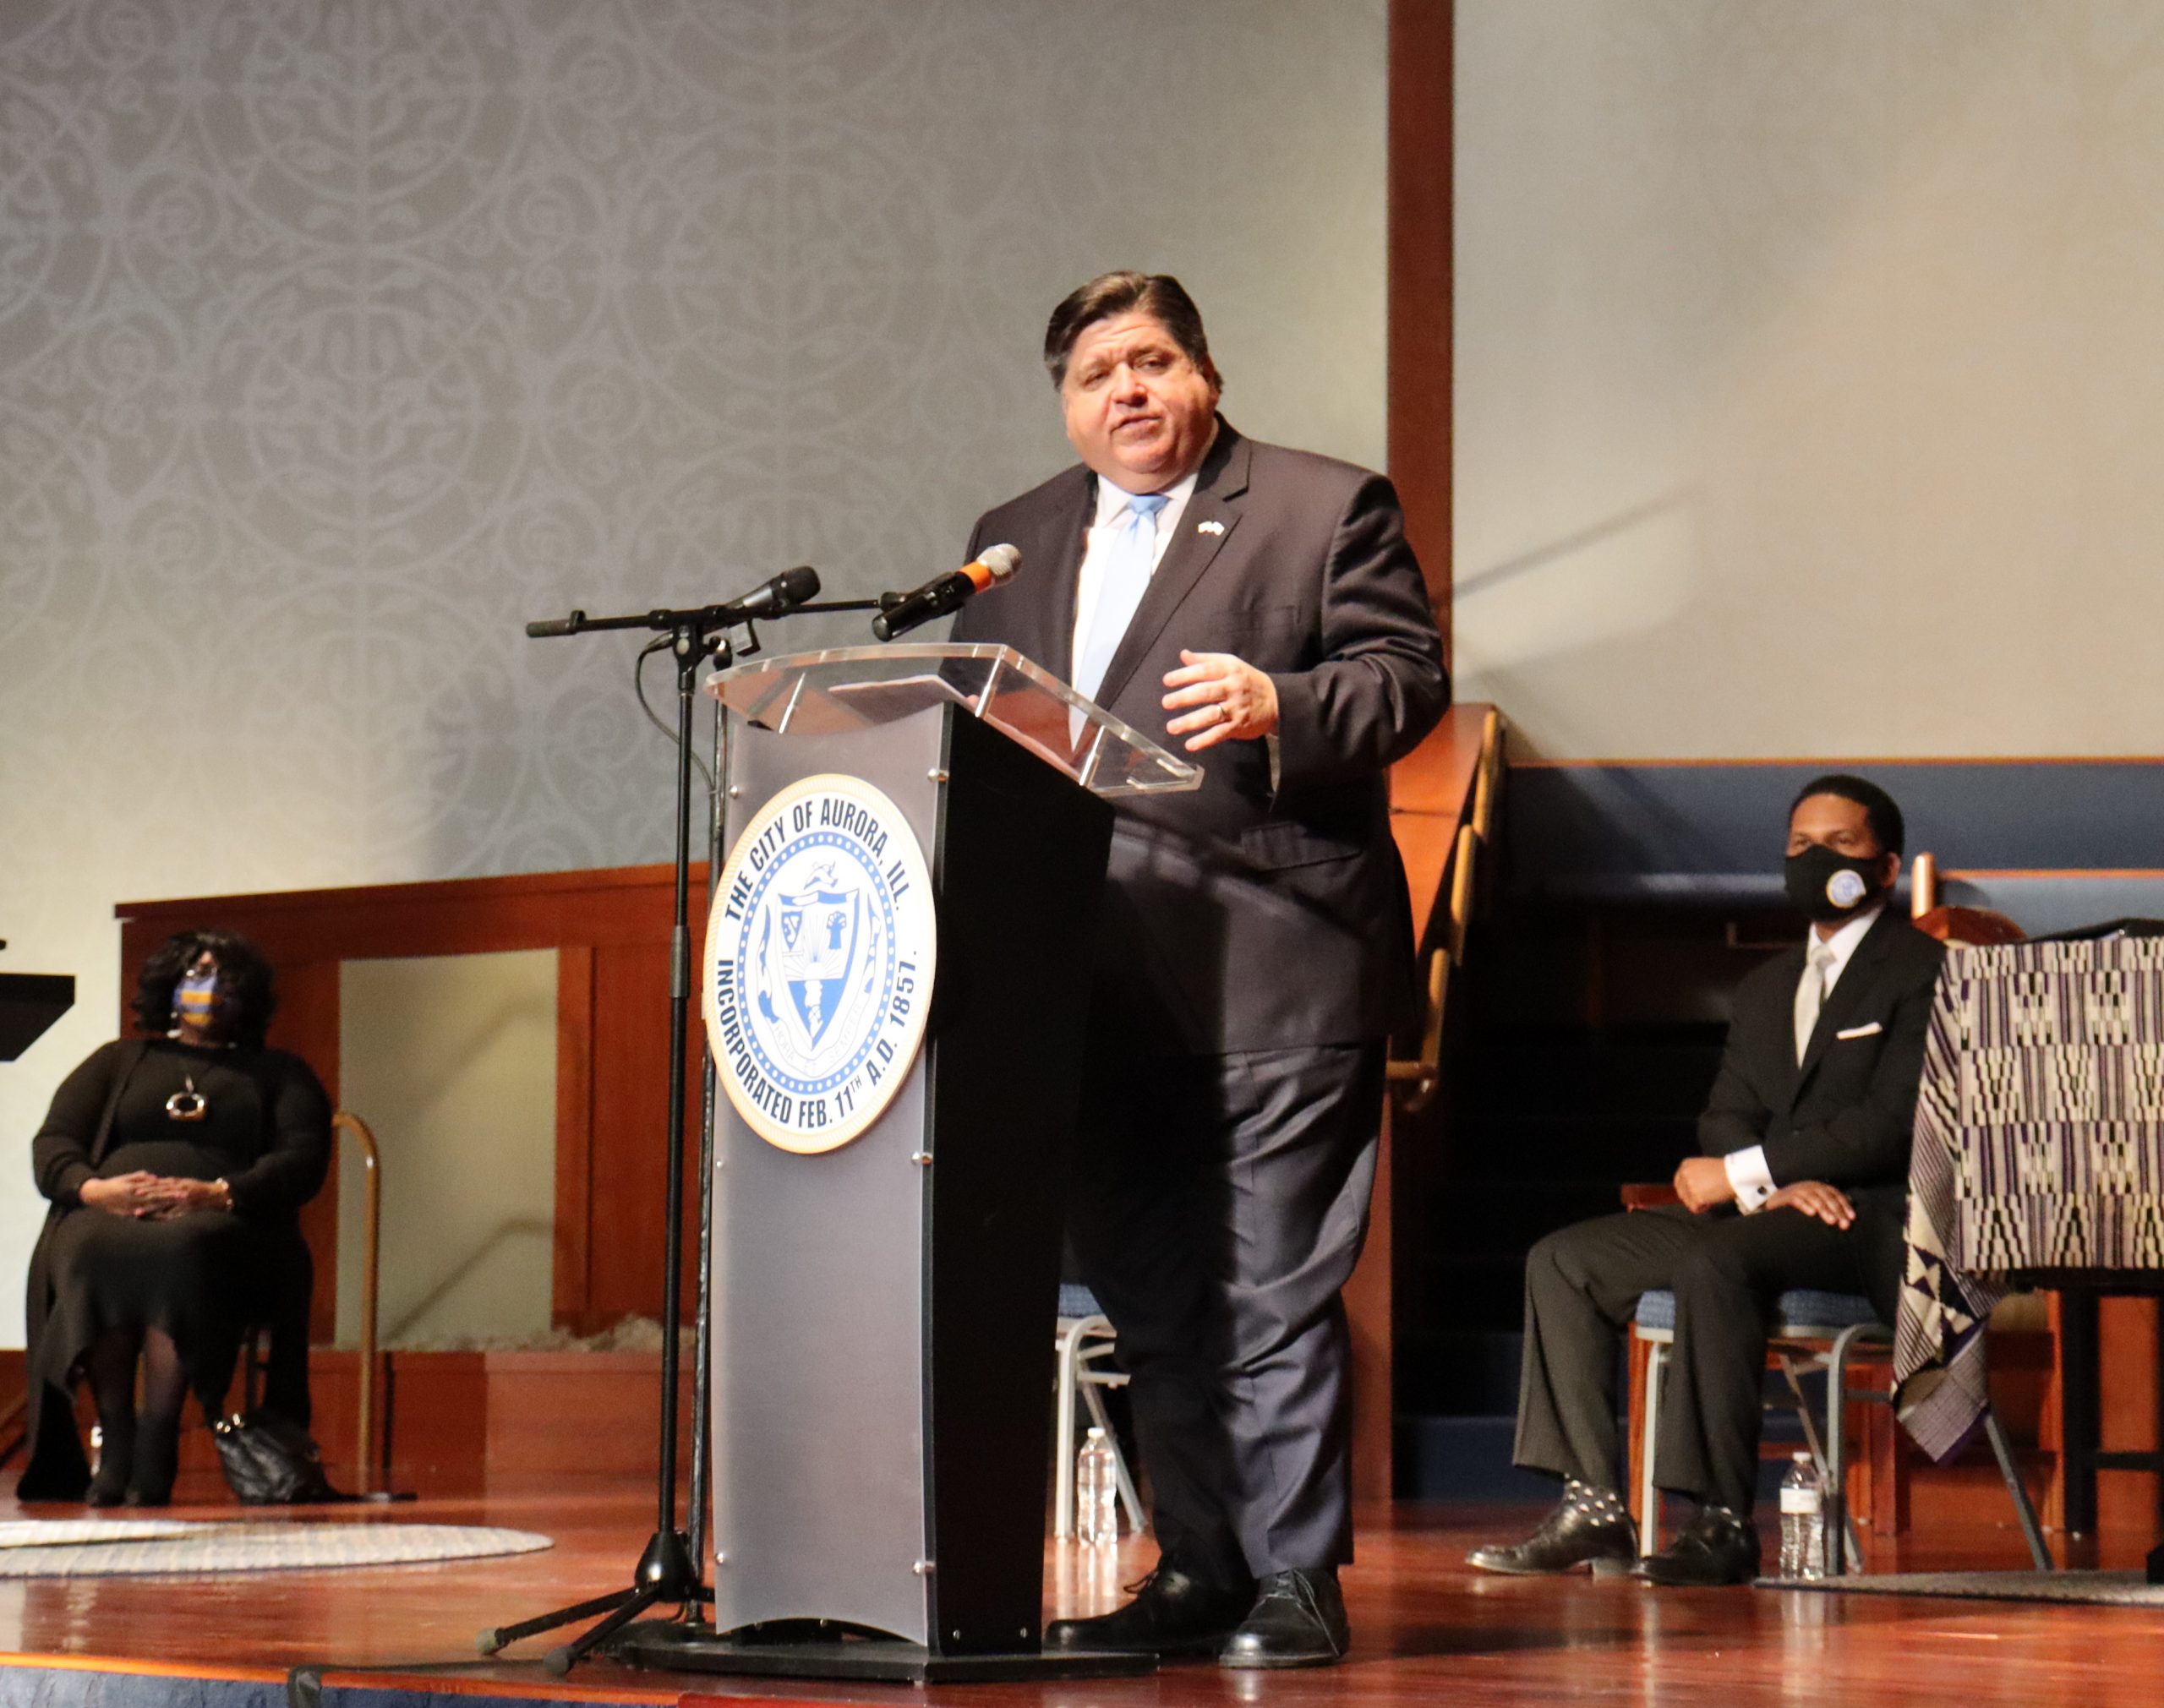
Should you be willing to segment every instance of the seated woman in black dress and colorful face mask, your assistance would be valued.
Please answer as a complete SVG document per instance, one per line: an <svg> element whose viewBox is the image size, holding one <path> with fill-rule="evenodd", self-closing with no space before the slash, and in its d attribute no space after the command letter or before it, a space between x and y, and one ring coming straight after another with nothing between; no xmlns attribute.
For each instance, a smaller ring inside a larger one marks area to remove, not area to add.
<svg viewBox="0 0 2164 1708"><path fill-rule="evenodd" d="M30 1256L19 1500L171 1500L186 1394L219 1416L240 1331L292 1316L266 1297L279 1279L305 1310L299 1210L322 1188L331 1102L305 1061L264 1046L275 1002L245 937L171 937L134 996L149 1037L106 1043L54 1093L30 1149L52 1212ZM80 1377L104 1437L95 1479L69 1403Z"/></svg>

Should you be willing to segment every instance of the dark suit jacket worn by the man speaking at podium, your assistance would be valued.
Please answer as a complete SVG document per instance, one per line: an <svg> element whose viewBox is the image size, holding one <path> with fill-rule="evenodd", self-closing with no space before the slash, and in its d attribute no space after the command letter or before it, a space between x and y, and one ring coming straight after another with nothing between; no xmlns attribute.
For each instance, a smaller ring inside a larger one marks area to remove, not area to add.
<svg viewBox="0 0 2164 1708"><path fill-rule="evenodd" d="M1097 478L1069 468L987 513L969 554L1021 571L963 606L956 641L1002 641L1067 680ZM1214 524L1212 530L1205 524ZM1097 701L1173 751L1158 704L1179 649L1231 652L1279 701L1268 745L1197 756L1192 794L1119 801L1099 1024L1160 1054L1352 1043L1411 998L1411 911L1385 766L1450 704L1441 639L1389 481L1218 424L1179 533Z"/></svg>

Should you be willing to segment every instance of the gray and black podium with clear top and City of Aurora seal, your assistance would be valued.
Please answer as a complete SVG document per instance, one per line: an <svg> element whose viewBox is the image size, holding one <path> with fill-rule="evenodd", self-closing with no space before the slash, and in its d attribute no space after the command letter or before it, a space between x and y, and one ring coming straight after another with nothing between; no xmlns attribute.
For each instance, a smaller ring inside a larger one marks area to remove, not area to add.
<svg viewBox="0 0 2164 1708"><path fill-rule="evenodd" d="M1008 647L708 686L714 1626L673 1663L1147 1669L1041 1654L1052 1329L1110 801L1201 771Z"/></svg>

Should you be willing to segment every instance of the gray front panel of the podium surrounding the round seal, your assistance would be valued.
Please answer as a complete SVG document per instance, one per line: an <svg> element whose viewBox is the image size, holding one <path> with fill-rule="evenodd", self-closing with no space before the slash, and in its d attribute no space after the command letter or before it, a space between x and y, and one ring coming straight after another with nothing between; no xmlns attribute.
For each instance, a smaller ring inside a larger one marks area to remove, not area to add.
<svg viewBox="0 0 2164 1708"><path fill-rule="evenodd" d="M725 846L786 784L881 781L931 862L941 723L840 736L740 730ZM840 1619L926 1643L924 1056L881 1117L833 1152L714 1124L714 1626ZM907 1396L896 1405L898 1396Z"/></svg>

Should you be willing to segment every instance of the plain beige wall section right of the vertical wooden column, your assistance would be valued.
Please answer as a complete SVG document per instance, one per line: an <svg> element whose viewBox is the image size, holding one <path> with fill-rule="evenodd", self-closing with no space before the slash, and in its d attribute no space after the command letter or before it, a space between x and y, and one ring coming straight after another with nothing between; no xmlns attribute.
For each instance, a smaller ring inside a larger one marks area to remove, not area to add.
<svg viewBox="0 0 2164 1708"><path fill-rule="evenodd" d="M1456 30L1456 665L1513 753L2164 751L2164 6Z"/></svg>

